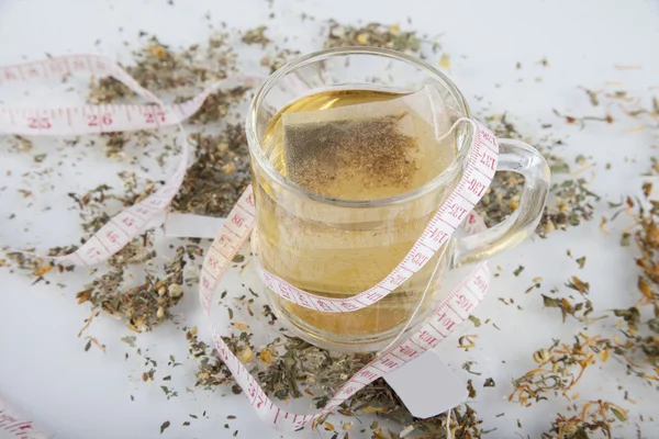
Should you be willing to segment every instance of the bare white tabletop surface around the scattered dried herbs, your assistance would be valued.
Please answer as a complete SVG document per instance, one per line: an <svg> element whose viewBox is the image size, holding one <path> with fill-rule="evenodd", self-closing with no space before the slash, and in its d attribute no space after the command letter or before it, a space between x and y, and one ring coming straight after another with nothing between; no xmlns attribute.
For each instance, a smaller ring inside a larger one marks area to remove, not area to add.
<svg viewBox="0 0 659 439"><path fill-rule="evenodd" d="M210 11L211 20L204 19ZM275 12L273 20L268 14ZM301 24L299 14L305 12L316 22ZM474 329L467 323L458 333L478 334L477 348L469 353L456 349L456 339L447 340L439 351L454 368L467 359L476 359L476 370L481 376L460 374L465 380L474 379L479 396L472 405L484 418L485 429L498 428L491 437L538 437L549 428L557 412L568 405L563 399L550 398L532 408L520 408L505 396L512 386L510 380L533 368L529 352L548 347L551 338L569 342L572 334L582 325L569 320L561 324L558 311L543 309L539 293L552 286L561 289L571 274L591 283L592 300L597 309L630 306L637 296L635 288L638 275L632 259L632 247L618 245L624 221L603 235L597 226L601 215L608 214L606 201L619 201L622 194L638 193L640 172L648 168L652 149L659 145L657 134L649 131L629 134L635 121L625 120L613 125L589 124L581 131L567 126L552 115L551 110L585 114L593 113L584 92L578 86L592 89L604 87L606 81L621 81L622 89L633 95L649 97L659 90L659 2L635 1L543 1L511 0L489 1L355 1L355 0L273 0L272 7L265 0L235 1L182 1L174 5L166 0L32 0L0 1L0 65L22 59L40 59L46 53L53 55L94 53L130 59L130 48L138 47L138 31L157 35L172 45L187 45L206 41L208 24L221 21L230 27L249 29L267 23L269 35L278 41L289 36L289 46L310 50L320 47L320 22L334 18L339 22L379 21L401 22L403 27L415 29L429 35L442 34L443 50L450 54L449 72L476 110L489 108L490 112L507 111L517 119L520 128L532 138L541 132L540 122L554 123L552 134L567 139L563 154L573 158L579 154L592 156L596 162L592 189L603 196L595 219L567 233L555 233L549 239L527 241L506 255L496 257L493 266L503 272L494 280L485 302L476 315L484 320L491 317L501 328L484 325ZM412 25L405 23L412 19ZM119 27L123 27L120 32ZM94 44L100 40L98 45ZM124 45L129 43L129 46ZM538 61L547 59L543 67ZM515 68L516 63L522 69ZM640 69L619 70L619 65L640 65ZM541 82L536 81L541 78ZM518 79L522 79L520 81ZM11 90L0 88L0 99ZM476 97L485 97L477 100ZM40 140L38 147L47 148L48 142ZM51 176L44 181L55 183L53 191L41 199L53 210L43 215L24 217L30 233L21 233L15 222L10 223L10 212L25 209L25 200L14 196L21 188L20 179L8 178L12 168L15 173L35 170L29 156L0 154L0 243L10 247L35 244L45 249L54 244L72 244L81 235L76 216L68 210L71 204L66 192L82 192L94 185L103 176L113 176L126 164L103 165L103 153L87 151L94 166L78 167L64 177ZM603 171L611 162L613 169ZM100 171L97 169L101 169ZM133 169L134 170L134 169ZM590 178L589 173L584 175ZM33 188L34 189L34 188ZM35 211L24 211L35 212ZM54 227L53 225L57 226ZM54 232L53 232L54 230ZM49 235L48 235L49 234ZM49 237L48 237L49 236ZM574 257L588 255L583 270L566 256L571 249ZM520 277L512 271L524 264ZM532 279L544 278L541 290L524 294ZM250 278L250 274L245 274ZM259 423L244 396L225 396L192 387L194 362L187 358L183 334L174 325L164 325L152 334L138 336L138 345L163 361L169 354L185 363L172 370L171 384L179 396L167 399L156 382L142 383L139 375L143 360L132 352L120 338L132 335L121 323L108 317L98 318L88 334L107 345L103 354L92 347L85 352L86 340L76 338L88 308L75 303L75 293L92 278L87 270L77 270L66 277L49 278L53 283L31 286L32 279L10 274L0 268L0 397L10 401L15 408L34 419L54 438L156 438L165 420L171 427L164 438L225 438L238 430L238 438L328 438L327 432L286 434L271 430ZM258 283L252 279L249 282ZM58 288L57 282L66 283ZM234 275L230 283L237 288ZM232 285L228 285L232 288ZM257 286L258 288L258 286ZM208 337L205 324L199 312L196 294L190 291L177 313L188 325L199 325L200 334ZM514 297L515 304L506 306L499 297ZM610 335L615 333L610 322ZM505 362L505 363L503 363ZM159 372L160 378L165 372ZM482 381L494 378L496 386L483 389ZM623 401L624 384L636 404L623 402L630 410L629 424L614 430L616 437L635 437L636 429L643 437L659 437L659 419L648 420L657 414L657 391L639 380L624 375L624 367L610 360L604 367L589 370L577 391L580 401L607 398ZM135 401L131 402L130 395ZM206 416L201 414L206 410ZM494 415L505 413L502 417ZM200 420L189 418L197 414ZM226 420L226 416L237 416ZM645 416L646 421L639 420ZM339 419L340 417L336 418ZM521 419L522 428L516 420ZM181 424L191 420L189 427ZM353 419L345 419L346 421ZM231 428L225 429L224 424ZM335 425L339 420L334 421ZM368 425L368 423L367 423ZM359 438L359 428L350 431L350 438ZM367 429L367 431L369 431ZM366 436L364 436L366 437Z"/></svg>

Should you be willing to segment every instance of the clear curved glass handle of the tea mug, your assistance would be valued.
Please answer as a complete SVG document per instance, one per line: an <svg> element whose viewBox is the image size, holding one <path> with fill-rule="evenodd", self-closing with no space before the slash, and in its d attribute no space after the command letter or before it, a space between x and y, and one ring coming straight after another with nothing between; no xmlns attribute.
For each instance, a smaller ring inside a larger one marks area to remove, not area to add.
<svg viewBox="0 0 659 439"><path fill-rule="evenodd" d="M453 268L488 259L520 245L543 216L551 172L545 157L524 142L500 138L498 171L524 176L520 205L505 221L476 235L460 238L450 260Z"/></svg>

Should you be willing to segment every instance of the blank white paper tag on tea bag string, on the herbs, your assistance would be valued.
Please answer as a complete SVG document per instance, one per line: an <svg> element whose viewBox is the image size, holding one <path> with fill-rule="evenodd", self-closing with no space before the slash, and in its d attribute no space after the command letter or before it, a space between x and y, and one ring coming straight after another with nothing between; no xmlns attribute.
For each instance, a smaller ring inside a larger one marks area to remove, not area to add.
<svg viewBox="0 0 659 439"><path fill-rule="evenodd" d="M384 375L412 416L437 416L467 399L467 385L442 361L437 352L428 350Z"/></svg>

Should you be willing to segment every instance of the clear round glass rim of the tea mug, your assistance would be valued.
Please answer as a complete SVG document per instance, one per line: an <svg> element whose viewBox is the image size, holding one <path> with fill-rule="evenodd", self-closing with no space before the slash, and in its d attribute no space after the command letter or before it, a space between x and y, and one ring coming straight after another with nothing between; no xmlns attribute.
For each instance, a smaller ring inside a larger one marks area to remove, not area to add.
<svg viewBox="0 0 659 439"><path fill-rule="evenodd" d="M270 162L270 160L266 157L266 154L261 148L261 140L258 137L256 128L256 117L257 111L264 98L268 94L272 87L275 87L275 85L286 75L301 67L304 67L305 65L311 64L317 60L319 58L353 54L382 56L399 61L405 61L407 64L414 65L415 67L422 70L425 70L433 77L433 79L440 82L451 93L451 95L458 104L459 112L466 117L471 117L467 100L465 99L458 87L454 83L454 81L446 74L443 74L442 71L437 70L436 68L434 68L433 66L420 58L407 54L403 54L401 52L378 47L347 46L327 48L323 50L312 52L302 57L290 60L289 63L284 64L279 69L277 69L275 72L272 72L259 87L256 94L252 99L252 103L249 104L249 110L247 112L247 119L245 121L245 134L247 136L247 144L249 153L252 155L252 159L257 161L258 167L267 173L268 178L270 178L277 184L280 184L282 188L295 193L297 195L301 195L313 201L340 207L378 207L391 204L406 203L436 190L448 178L450 178L455 169L460 166L460 164L467 156L469 148L459 148L458 154L456 154L450 165L446 167L446 169L444 169L433 179L428 180L426 183L420 185L418 188L399 193L393 196L373 200L345 200L337 199L334 196L322 195L320 193L310 191L309 189L302 188L289 178L282 176L281 172L279 172Z"/></svg>

